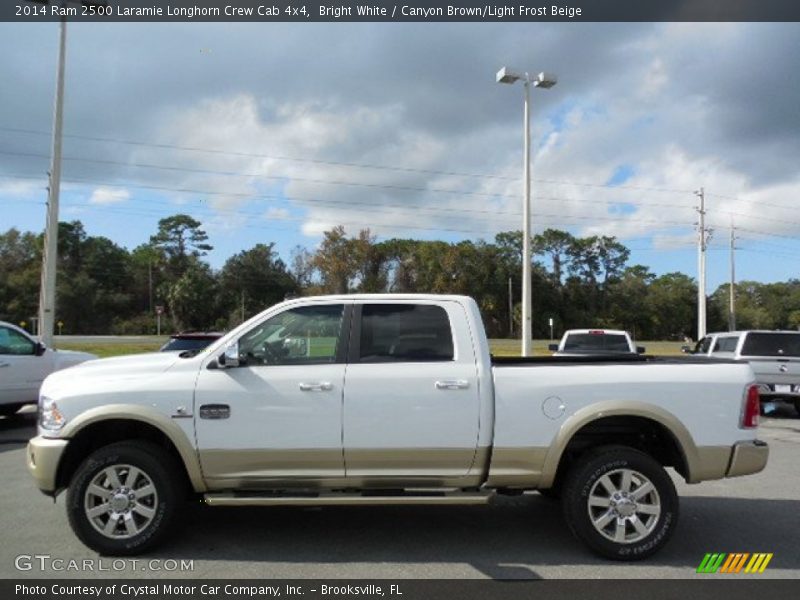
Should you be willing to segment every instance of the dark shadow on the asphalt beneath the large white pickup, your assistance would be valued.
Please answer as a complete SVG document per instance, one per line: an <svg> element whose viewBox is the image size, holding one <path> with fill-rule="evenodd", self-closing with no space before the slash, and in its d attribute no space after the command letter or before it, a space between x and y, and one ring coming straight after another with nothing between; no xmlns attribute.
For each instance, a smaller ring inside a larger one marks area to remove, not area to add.
<svg viewBox="0 0 800 600"><path fill-rule="evenodd" d="M494 579L537 579L537 565L672 566L691 577L706 552L773 552L771 569L800 568L800 501L684 497L668 546L644 562L591 554L560 504L538 495L487 507L192 507L157 556L264 563L463 563Z"/></svg>

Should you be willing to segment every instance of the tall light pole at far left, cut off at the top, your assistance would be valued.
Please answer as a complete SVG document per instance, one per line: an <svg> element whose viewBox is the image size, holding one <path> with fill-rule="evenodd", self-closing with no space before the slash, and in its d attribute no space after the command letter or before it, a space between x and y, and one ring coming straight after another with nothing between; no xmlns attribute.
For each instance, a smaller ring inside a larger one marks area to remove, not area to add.
<svg viewBox="0 0 800 600"><path fill-rule="evenodd" d="M29 0L34 4L50 4L49 0ZM62 8L67 4L104 6L105 0L61 0L53 2ZM50 181L47 186L47 220L42 251L42 279L39 288L39 338L45 346L53 346L56 317L56 269L58 266L58 199L61 191L61 139L64 116L64 63L67 47L67 18L59 23L58 62L56 66L56 98L53 107L53 146Z"/></svg>

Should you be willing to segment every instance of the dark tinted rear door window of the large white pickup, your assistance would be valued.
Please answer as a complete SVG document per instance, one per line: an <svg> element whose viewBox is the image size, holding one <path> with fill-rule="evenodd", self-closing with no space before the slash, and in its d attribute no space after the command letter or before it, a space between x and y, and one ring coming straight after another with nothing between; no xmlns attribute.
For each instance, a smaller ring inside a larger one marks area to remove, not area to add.
<svg viewBox="0 0 800 600"><path fill-rule="evenodd" d="M361 309L359 360L453 360L447 312L441 306L427 304L365 304Z"/></svg>

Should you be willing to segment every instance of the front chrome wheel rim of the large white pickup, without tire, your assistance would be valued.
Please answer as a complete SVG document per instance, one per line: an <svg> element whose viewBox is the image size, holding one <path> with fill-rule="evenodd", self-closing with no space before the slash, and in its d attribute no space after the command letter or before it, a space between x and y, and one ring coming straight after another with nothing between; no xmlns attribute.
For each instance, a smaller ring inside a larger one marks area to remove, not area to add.
<svg viewBox="0 0 800 600"><path fill-rule="evenodd" d="M110 539L144 531L156 515L158 494L150 476L133 465L112 465L94 476L83 500L86 518Z"/></svg>

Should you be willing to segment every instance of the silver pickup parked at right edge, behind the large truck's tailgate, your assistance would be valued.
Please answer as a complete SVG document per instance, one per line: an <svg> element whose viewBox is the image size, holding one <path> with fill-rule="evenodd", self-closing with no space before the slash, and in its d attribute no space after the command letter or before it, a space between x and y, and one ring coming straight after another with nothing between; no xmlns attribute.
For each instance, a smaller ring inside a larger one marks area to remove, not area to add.
<svg viewBox="0 0 800 600"><path fill-rule="evenodd" d="M755 373L765 412L771 412L774 403L784 402L800 413L800 331L709 333L690 354L746 360Z"/></svg>

